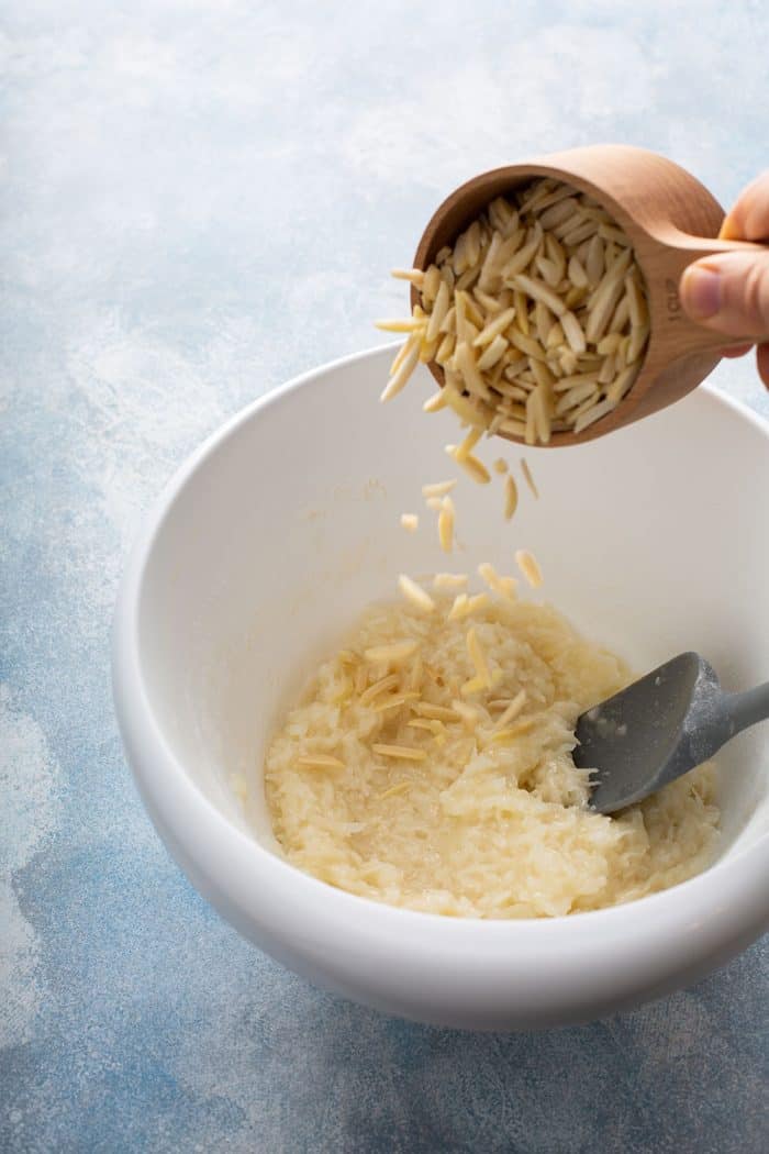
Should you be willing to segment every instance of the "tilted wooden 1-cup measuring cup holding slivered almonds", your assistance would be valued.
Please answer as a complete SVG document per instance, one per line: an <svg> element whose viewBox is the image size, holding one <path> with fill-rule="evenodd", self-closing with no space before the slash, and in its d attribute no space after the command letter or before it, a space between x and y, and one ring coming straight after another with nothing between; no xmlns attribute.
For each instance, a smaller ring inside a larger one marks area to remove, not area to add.
<svg viewBox="0 0 769 1154"><path fill-rule="evenodd" d="M527 164L493 168L468 180L436 210L416 249L427 269L492 201L537 177L565 181L595 197L627 234L646 282L650 334L641 370L613 412L582 433L553 433L551 445L575 444L611 433L679 400L721 360L721 350L745 344L691 321L678 297L684 269L701 256L763 246L718 240L724 210L691 173L665 157L626 144L594 144L553 152ZM412 305L419 304L412 286ZM443 384L435 361L430 372ZM507 436L515 441L519 437Z"/></svg>

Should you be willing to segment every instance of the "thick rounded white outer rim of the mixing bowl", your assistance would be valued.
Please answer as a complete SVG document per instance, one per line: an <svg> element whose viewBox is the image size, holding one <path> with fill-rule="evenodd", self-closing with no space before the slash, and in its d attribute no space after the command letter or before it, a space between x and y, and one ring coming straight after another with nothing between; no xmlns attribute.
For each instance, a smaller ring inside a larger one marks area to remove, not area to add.
<svg viewBox="0 0 769 1154"><path fill-rule="evenodd" d="M568 944L565 959L578 964L649 966L661 973L681 959L694 964L733 942L737 952L769 926L769 832L726 860L659 893L604 909L556 917L448 917L389 906L336 889L277 856L234 825L188 775L153 711L143 676L138 635L148 563L169 511L193 475L246 424L319 379L392 354L393 344L338 358L293 377L251 402L208 436L176 470L144 518L120 584L112 634L112 683L119 728L134 779L163 839L193 884L224 901L241 924L265 934L280 922L280 936L327 947L344 931L345 947L382 950L393 960L435 964L435 951L502 973L541 958L543 947ZM725 417L747 421L769 441L769 422L713 384L696 390ZM685 932L683 932L685 931ZM515 956L511 956L511 944ZM565 973L566 971L564 971Z"/></svg>

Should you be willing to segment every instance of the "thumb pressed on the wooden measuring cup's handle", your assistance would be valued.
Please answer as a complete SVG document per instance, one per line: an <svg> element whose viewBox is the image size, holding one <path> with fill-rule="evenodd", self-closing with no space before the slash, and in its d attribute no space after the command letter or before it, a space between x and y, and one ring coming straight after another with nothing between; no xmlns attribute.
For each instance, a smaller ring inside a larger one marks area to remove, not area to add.
<svg viewBox="0 0 769 1154"><path fill-rule="evenodd" d="M704 256L684 270L684 310L730 337L769 339L769 249Z"/></svg>

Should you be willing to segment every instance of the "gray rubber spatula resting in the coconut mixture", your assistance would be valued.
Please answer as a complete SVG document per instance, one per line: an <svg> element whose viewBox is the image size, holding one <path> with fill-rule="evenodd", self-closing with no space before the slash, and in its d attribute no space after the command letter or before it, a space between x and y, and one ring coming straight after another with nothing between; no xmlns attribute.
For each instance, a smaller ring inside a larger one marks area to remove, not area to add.
<svg viewBox="0 0 769 1154"><path fill-rule="evenodd" d="M578 720L574 764L596 770L590 808L642 801L767 718L769 682L725 694L704 658L680 653Z"/></svg>

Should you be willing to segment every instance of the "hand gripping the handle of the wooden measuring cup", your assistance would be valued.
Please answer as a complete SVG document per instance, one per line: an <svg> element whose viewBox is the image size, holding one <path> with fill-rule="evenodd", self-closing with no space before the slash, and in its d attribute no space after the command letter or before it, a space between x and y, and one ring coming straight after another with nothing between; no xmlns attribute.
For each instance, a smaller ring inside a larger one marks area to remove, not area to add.
<svg viewBox="0 0 769 1154"><path fill-rule="evenodd" d="M719 237L769 242L769 172L740 193L724 217ZM755 336L753 342L724 350L724 355L742 357L755 344L759 376L769 389L769 248L703 256L684 270L680 298L699 324L731 337Z"/></svg>

